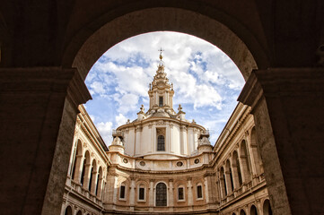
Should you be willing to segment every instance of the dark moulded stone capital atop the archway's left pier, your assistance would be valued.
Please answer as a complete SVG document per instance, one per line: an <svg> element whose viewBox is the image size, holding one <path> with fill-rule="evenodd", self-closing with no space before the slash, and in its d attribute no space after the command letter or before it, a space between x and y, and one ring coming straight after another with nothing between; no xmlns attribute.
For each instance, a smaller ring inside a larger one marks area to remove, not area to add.
<svg viewBox="0 0 324 215"><path fill-rule="evenodd" d="M92 99L76 68L0 68L1 91L62 92L77 108Z"/></svg>

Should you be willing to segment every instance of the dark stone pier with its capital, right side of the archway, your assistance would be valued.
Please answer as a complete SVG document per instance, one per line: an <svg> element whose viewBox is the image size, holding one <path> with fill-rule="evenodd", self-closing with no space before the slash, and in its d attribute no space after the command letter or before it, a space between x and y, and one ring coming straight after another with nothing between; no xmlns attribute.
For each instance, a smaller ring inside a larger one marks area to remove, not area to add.
<svg viewBox="0 0 324 215"><path fill-rule="evenodd" d="M252 107L274 214L323 214L324 68L254 71L239 100Z"/></svg>

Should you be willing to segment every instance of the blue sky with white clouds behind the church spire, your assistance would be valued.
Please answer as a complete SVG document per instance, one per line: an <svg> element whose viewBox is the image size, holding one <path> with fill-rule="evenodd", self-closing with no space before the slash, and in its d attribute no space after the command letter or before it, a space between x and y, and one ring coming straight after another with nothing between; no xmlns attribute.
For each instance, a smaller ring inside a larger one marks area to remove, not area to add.
<svg viewBox="0 0 324 215"><path fill-rule="evenodd" d="M173 83L173 109L181 104L189 121L210 131L215 144L237 105L244 79L222 50L206 40L157 31L126 39L104 53L86 77L92 100L84 107L109 146L112 129L136 119L149 107L148 89L162 52L165 72Z"/></svg>

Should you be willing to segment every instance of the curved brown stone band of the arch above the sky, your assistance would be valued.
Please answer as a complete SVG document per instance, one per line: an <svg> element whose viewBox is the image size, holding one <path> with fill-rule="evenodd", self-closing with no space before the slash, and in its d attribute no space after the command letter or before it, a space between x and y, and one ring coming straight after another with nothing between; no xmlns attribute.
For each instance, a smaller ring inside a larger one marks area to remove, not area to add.
<svg viewBox="0 0 324 215"><path fill-rule="evenodd" d="M244 31L243 27L241 29ZM249 35L248 30L245 30L244 34L247 35L247 39L250 39L249 42L255 45L250 48L256 53L254 56L252 56L246 44L221 22L200 13L179 8L162 7L127 13L103 24L98 30L89 31L89 28L81 30L80 37L90 34L88 39L84 39L81 47L79 43L82 39L75 37L75 41L73 40L66 48L63 64L64 66L71 66L72 64L85 79L92 65L110 47L138 34L161 30L187 33L214 44L232 58L245 80L248 79L253 69L267 67L266 55L258 46L253 35Z"/></svg>

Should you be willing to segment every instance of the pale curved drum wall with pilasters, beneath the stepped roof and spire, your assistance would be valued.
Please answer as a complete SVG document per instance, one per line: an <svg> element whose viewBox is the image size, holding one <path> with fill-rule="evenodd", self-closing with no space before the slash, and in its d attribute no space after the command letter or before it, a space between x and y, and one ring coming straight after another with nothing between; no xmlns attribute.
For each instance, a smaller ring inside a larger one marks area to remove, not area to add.
<svg viewBox="0 0 324 215"><path fill-rule="evenodd" d="M140 123L122 125L125 153L144 158L176 159L197 153L198 136L205 128L176 119L150 118ZM158 150L158 136L162 135L165 150Z"/></svg>

